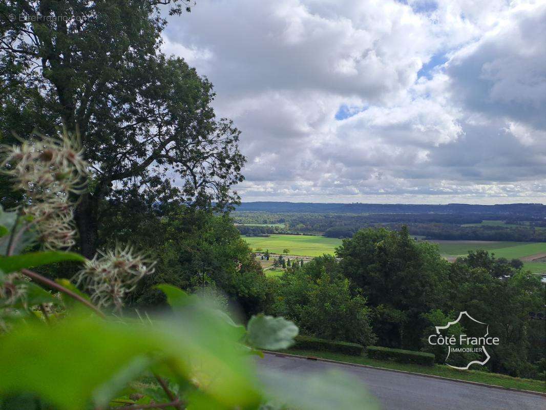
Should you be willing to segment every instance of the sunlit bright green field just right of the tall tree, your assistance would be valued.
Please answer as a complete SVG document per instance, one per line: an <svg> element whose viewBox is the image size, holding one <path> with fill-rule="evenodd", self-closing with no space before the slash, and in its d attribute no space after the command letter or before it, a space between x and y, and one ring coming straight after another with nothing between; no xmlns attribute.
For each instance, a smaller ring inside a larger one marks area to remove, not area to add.
<svg viewBox="0 0 546 410"><path fill-rule="evenodd" d="M341 245L341 239L312 235L271 235L269 237L242 236L252 249L268 249L271 253L282 254L284 249L290 249L289 255L321 256L334 255L336 247Z"/></svg>

